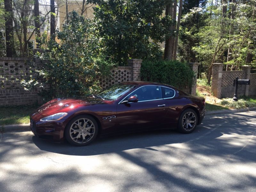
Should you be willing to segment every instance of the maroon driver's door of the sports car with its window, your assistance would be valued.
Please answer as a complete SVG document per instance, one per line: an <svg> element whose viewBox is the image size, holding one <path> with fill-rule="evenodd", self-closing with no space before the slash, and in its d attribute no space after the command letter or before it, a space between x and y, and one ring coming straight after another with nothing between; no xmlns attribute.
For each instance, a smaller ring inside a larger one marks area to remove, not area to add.
<svg viewBox="0 0 256 192"><path fill-rule="evenodd" d="M138 102L117 105L119 131L149 129L159 126L166 115L168 102L162 99L160 86L142 86L124 100L136 96Z"/></svg>

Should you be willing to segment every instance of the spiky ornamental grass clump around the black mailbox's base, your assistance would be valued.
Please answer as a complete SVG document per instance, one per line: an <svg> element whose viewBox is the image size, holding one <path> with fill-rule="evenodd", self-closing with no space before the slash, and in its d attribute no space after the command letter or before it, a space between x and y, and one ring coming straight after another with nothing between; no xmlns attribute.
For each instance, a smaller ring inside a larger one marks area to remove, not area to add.
<svg viewBox="0 0 256 192"><path fill-rule="evenodd" d="M238 101L234 101L231 98L222 99L220 105L225 107L234 108L234 109L243 109L247 107L256 107L256 98L255 97L243 97Z"/></svg>

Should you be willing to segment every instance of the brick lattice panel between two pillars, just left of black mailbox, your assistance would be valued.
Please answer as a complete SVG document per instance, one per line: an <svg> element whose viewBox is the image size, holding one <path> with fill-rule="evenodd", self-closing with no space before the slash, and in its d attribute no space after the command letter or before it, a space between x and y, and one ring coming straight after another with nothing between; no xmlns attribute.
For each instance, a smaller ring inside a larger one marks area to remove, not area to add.
<svg viewBox="0 0 256 192"><path fill-rule="evenodd" d="M233 81L236 77L244 79L244 71L222 71L222 87L233 86Z"/></svg>

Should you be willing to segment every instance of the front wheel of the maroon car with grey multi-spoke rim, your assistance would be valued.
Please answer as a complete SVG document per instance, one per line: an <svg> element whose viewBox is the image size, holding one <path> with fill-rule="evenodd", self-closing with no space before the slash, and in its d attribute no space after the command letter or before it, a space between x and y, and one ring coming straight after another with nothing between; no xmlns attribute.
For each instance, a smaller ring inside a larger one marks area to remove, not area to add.
<svg viewBox="0 0 256 192"><path fill-rule="evenodd" d="M86 146L96 139L99 132L99 126L92 116L80 115L70 120L64 132L66 139L70 144Z"/></svg>

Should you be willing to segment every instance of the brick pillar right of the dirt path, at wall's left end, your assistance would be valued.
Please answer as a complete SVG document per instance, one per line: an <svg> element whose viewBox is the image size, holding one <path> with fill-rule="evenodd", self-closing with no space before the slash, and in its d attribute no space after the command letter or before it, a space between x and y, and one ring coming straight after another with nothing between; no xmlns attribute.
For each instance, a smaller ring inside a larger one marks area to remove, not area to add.
<svg viewBox="0 0 256 192"><path fill-rule="evenodd" d="M223 63L212 64L212 93L215 97L221 98Z"/></svg>

